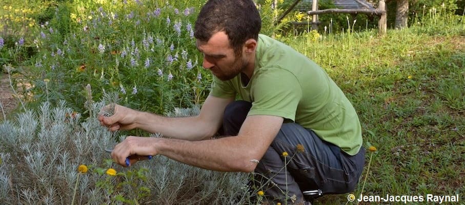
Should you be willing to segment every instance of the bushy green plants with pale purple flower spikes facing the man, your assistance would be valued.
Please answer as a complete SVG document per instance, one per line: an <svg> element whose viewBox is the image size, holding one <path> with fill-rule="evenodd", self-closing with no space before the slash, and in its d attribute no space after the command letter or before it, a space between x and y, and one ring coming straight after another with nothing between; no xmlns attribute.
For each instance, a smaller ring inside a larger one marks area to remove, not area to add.
<svg viewBox="0 0 465 205"><path fill-rule="evenodd" d="M156 113L201 104L211 76L198 64L192 26L197 10L157 1L58 7L55 19L36 34L39 54L20 70L34 85L30 105L66 99L83 112L87 84L94 100L119 92L124 105Z"/></svg>

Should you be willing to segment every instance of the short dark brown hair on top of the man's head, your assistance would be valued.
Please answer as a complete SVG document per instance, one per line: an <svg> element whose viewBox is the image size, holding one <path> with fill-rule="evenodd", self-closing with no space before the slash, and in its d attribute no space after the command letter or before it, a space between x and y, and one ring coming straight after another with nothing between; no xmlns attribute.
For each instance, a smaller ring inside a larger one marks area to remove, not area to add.
<svg viewBox="0 0 465 205"><path fill-rule="evenodd" d="M224 31L237 53L246 40L258 39L261 18L252 0L210 0L200 10L194 36L208 42L211 36Z"/></svg>

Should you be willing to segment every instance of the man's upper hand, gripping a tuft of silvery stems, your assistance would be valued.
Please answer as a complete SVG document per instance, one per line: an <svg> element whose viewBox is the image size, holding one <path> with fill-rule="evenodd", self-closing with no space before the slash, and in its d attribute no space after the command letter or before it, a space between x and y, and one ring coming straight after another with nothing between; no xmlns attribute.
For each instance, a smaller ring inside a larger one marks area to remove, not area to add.
<svg viewBox="0 0 465 205"><path fill-rule="evenodd" d="M104 108L109 109L112 105L108 105ZM108 127L110 131L116 130L132 130L137 127L137 118L140 115L139 111L120 106L114 105L114 111L112 116L105 117L98 115L98 121L100 125Z"/></svg>

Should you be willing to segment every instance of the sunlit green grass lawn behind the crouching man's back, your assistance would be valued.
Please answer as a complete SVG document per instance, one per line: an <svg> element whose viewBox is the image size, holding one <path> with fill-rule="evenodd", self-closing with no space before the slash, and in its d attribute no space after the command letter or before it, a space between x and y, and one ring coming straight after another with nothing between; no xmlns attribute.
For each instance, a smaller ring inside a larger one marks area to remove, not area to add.
<svg viewBox="0 0 465 205"><path fill-rule="evenodd" d="M412 28L385 37L363 32L323 36L321 42L288 39L347 94L362 122L365 147L378 149L363 195L464 193L465 29L458 31L437 35ZM346 197L324 196L316 204Z"/></svg>

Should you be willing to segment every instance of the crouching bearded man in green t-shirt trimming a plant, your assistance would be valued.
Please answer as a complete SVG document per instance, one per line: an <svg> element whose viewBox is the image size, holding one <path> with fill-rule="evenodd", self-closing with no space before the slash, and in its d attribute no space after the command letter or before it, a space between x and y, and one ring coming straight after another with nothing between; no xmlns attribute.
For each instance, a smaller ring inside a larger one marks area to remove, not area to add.
<svg viewBox="0 0 465 205"><path fill-rule="evenodd" d="M209 170L255 172L257 191L283 204L308 204L308 190L354 190L365 151L353 106L324 70L259 35L260 28L251 0L207 2L194 35L214 77L200 114L168 118L116 105L113 116L98 117L111 131L138 128L169 138L127 137L113 159L126 166L129 156L133 164L160 154ZM228 137L212 139L218 132Z"/></svg>

